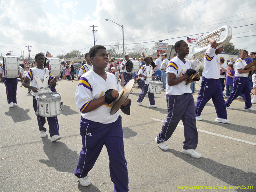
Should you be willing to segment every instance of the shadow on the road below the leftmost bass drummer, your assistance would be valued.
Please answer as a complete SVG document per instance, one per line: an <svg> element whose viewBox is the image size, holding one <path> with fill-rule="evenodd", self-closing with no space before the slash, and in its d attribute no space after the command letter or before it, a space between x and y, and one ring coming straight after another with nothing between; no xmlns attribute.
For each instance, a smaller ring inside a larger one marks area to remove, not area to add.
<svg viewBox="0 0 256 192"><path fill-rule="evenodd" d="M19 106L16 106L16 107L13 107L13 108L9 108L9 111L5 112L4 114L6 116L11 116L13 122L17 123L17 122L21 122L21 121L30 120L31 118L27 114L29 111L30 111L30 109L24 110L23 108L20 108Z"/></svg>

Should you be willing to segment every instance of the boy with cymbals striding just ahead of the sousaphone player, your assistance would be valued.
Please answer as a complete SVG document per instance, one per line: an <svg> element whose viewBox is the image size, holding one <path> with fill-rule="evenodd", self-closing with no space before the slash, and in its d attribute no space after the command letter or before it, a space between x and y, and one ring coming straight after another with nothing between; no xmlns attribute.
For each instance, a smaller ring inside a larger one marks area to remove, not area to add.
<svg viewBox="0 0 256 192"><path fill-rule="evenodd" d="M182 153L195 158L202 157L195 151L198 142L198 132L196 129L195 103L190 89L190 84L186 85L187 79L196 72L191 68L191 63L185 59L189 53L188 44L181 40L174 45L178 56L174 57L167 65L166 101L168 115L163 123L161 132L156 136L156 143L161 149L167 150L167 141L180 120L184 125L184 136ZM198 81L197 75L193 80Z"/></svg>

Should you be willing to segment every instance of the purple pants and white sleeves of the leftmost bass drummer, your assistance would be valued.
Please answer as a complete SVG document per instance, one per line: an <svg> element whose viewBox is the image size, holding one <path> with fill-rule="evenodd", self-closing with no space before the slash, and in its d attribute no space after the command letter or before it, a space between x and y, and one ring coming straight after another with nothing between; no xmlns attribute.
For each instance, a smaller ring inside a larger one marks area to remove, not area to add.
<svg viewBox="0 0 256 192"><path fill-rule="evenodd" d="M6 95L7 95L7 102L10 103L17 103L17 86L18 86L18 78L17 77L4 77L3 73L3 62L0 63L0 75L3 76L4 85L6 87ZM21 70L20 70L21 73Z"/></svg>

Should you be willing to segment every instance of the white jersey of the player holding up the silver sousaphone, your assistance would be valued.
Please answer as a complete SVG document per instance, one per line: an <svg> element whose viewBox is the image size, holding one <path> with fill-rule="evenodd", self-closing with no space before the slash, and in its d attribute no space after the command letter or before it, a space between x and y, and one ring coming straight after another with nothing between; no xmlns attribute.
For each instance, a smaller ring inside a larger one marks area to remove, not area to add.
<svg viewBox="0 0 256 192"><path fill-rule="evenodd" d="M220 57L215 54L216 47L210 45L204 55L203 76L207 79L220 78Z"/></svg>

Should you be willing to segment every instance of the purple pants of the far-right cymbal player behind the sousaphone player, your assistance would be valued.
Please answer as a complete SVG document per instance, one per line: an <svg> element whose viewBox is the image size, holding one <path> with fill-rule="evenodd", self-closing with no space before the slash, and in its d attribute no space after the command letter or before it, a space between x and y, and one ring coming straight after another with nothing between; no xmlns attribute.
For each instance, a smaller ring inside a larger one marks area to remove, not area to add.
<svg viewBox="0 0 256 192"><path fill-rule="evenodd" d="M230 93L228 100L226 101L226 106L229 107L230 104L234 99L237 98L237 96L242 93L242 97L245 101L245 109L252 107L252 101L251 101L251 88L250 88L250 82L247 79L247 77L234 77L233 78L233 90Z"/></svg>

